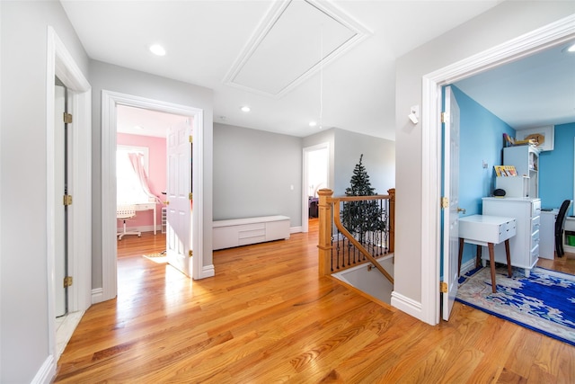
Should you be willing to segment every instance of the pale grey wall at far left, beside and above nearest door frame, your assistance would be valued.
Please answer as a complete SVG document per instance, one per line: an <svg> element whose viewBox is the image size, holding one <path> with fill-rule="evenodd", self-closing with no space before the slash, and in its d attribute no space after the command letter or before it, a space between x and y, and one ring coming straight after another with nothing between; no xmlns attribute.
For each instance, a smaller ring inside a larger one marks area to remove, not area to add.
<svg viewBox="0 0 575 384"><path fill-rule="evenodd" d="M0 382L27 383L47 368L53 352L47 296L48 26L84 76L88 58L58 2L3 1L0 10Z"/></svg>

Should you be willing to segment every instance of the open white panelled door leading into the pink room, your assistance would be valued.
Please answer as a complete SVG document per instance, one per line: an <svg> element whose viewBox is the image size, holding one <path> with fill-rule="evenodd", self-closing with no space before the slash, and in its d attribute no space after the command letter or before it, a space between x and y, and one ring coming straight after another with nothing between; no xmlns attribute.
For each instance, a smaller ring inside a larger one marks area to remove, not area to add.
<svg viewBox="0 0 575 384"><path fill-rule="evenodd" d="M190 119L168 130L166 140L167 209L166 251L168 263L192 275L191 263L191 126Z"/></svg>

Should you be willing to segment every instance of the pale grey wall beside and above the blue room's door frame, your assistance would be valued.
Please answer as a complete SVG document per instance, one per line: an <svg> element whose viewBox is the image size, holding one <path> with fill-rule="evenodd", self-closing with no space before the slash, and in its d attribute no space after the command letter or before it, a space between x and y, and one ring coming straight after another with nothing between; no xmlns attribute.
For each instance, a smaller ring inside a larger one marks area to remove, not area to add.
<svg viewBox="0 0 575 384"><path fill-rule="evenodd" d="M411 300L414 307L421 304L422 297L421 237L424 234L420 223L421 149L424 143L421 135L423 121L414 126L407 119L407 114L411 105L421 104L422 76L571 13L575 13L573 2L504 2L397 60L394 293ZM429 236L438 237L439 234ZM422 304L425 306L425 303Z"/></svg>

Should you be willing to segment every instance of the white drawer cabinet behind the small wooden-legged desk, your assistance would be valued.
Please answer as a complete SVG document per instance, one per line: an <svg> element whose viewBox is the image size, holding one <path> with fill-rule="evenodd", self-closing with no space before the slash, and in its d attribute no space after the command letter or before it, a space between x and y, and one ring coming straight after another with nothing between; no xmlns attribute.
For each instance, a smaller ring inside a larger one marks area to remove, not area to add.
<svg viewBox="0 0 575 384"><path fill-rule="evenodd" d="M507 149L507 148L506 148ZM504 216L516 219L517 233L509 239L511 265L524 268L526 276L539 260L539 225L541 200L534 198L483 198L483 215ZM482 260L489 260L483 250ZM507 263L505 246L495 246L495 262Z"/></svg>

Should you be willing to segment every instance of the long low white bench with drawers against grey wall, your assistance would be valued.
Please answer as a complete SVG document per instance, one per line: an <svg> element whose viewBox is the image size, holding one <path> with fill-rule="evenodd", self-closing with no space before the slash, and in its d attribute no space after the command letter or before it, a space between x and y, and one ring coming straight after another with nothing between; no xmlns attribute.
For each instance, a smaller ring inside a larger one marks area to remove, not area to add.
<svg viewBox="0 0 575 384"><path fill-rule="evenodd" d="M283 238L289 238L289 218L287 216L214 221L214 250L233 246L247 246Z"/></svg>

